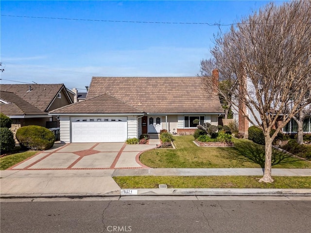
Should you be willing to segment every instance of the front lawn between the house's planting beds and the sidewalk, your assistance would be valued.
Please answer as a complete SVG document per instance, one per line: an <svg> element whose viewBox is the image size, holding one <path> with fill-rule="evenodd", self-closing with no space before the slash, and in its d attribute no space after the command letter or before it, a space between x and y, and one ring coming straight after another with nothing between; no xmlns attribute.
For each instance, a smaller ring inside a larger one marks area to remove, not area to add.
<svg viewBox="0 0 311 233"><path fill-rule="evenodd" d="M175 136L176 150L149 150L140 162L149 167L264 167L264 146L247 139L233 139L233 148L197 147L192 135ZM273 150L273 168L310 168L311 162Z"/></svg>

